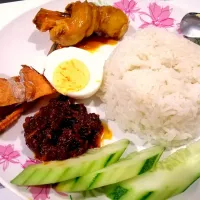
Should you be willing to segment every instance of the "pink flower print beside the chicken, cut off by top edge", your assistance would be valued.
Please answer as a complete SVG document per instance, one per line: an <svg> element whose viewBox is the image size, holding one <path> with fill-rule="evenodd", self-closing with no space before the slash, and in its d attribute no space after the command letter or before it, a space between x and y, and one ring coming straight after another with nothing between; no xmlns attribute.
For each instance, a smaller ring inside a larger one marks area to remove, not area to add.
<svg viewBox="0 0 200 200"><path fill-rule="evenodd" d="M135 13L140 10L137 8L137 2L134 0L120 0L115 2L114 6L123 10L132 20L135 20Z"/></svg>

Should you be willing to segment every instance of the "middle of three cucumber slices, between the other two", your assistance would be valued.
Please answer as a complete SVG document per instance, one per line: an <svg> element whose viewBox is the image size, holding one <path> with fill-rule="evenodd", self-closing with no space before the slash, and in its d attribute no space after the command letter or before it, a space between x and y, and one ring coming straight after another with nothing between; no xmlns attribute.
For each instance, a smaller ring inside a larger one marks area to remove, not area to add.
<svg viewBox="0 0 200 200"><path fill-rule="evenodd" d="M139 153L134 152L111 166L61 182L56 186L56 190L59 192L91 190L132 178L154 167L163 151L162 147L152 147Z"/></svg>

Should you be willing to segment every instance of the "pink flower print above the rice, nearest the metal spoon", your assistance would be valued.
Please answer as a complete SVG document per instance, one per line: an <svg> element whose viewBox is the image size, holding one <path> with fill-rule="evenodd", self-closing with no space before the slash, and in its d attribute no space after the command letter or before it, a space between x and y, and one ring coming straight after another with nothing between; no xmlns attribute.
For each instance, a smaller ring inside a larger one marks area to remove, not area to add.
<svg viewBox="0 0 200 200"><path fill-rule="evenodd" d="M161 7L157 3L149 4L149 13L140 12L140 19L143 24L140 28L154 25L162 28L170 28L174 25L174 19L170 18L172 9L169 6Z"/></svg>

